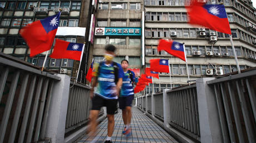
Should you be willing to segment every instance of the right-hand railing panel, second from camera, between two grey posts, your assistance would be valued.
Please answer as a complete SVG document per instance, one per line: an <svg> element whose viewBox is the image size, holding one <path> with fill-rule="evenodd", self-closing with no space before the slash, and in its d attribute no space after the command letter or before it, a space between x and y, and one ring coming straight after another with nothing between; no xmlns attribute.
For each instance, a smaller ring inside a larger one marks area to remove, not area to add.
<svg viewBox="0 0 256 143"><path fill-rule="evenodd" d="M167 91L170 102L169 124L200 141L196 85Z"/></svg>

